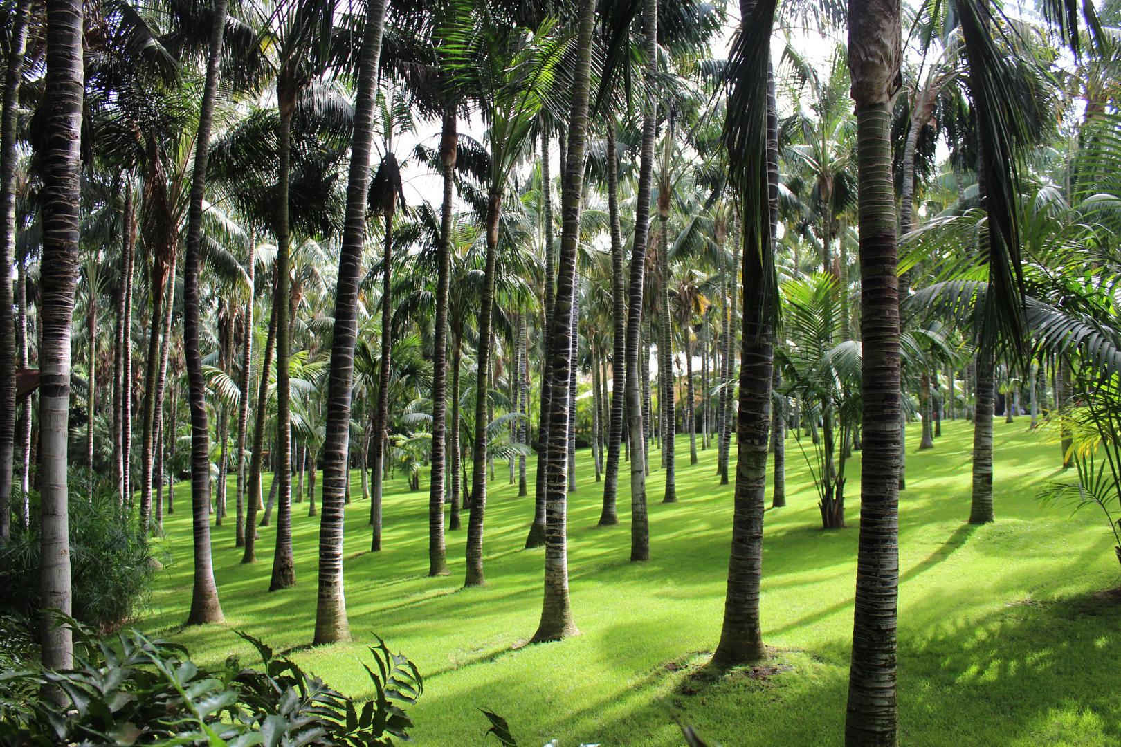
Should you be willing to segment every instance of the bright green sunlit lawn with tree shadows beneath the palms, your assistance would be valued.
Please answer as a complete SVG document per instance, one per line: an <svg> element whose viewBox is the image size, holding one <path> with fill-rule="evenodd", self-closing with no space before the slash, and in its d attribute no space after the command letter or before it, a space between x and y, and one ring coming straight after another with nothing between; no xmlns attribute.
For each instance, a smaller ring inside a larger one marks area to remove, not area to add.
<svg viewBox="0 0 1121 747"><path fill-rule="evenodd" d="M924 452L916 451L919 428L908 429L908 489L899 506L901 744L1121 741L1121 608L1095 595L1119 580L1108 526L1088 512L1071 519L1068 511L1040 507L1038 485L1062 474L1058 446L1026 426L1026 418L995 424L998 521L980 527L964 524L971 424L944 423L936 448ZM318 526L306 503L294 512L297 586L267 591L272 527L260 530L260 561L240 564L231 519L213 535L226 623L189 629L179 627L192 569L189 515L180 508L166 524L175 562L158 580L154 613L142 625L209 663L231 653L254 659L232 628L277 648L300 647L297 661L355 695L368 691L359 662L377 633L425 675L424 697L410 711L421 746L482 744L480 707L503 715L524 747L553 737L562 745L680 745L671 711L725 746L841 745L859 454L849 469L849 529L824 532L805 464L788 440L789 506L768 510L763 544L763 635L775 648L773 671L713 681L697 670L720 634L731 489L713 477L714 449L692 467L685 438L677 449L680 503L659 503L663 473L656 470L648 482L651 560L639 564L628 561L624 505L624 523L595 527L602 484L594 482L589 452L581 454L580 489L569 496L568 562L582 635L559 644L519 647L540 615L543 551L522 550L532 498L517 497L504 465L489 488L484 588L461 589L465 530L448 533L452 576L425 578L427 491L405 492L398 479L387 486L382 552L367 552L369 506L348 508L353 644L306 647ZM656 450L651 458L657 465ZM356 477L352 494L360 495ZM620 495L629 496L626 480Z"/></svg>

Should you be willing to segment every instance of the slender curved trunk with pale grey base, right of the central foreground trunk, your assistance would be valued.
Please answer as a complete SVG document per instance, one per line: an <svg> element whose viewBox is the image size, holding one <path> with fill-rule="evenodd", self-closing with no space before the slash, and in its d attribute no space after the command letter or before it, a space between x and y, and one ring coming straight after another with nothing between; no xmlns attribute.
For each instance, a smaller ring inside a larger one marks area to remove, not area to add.
<svg viewBox="0 0 1121 747"><path fill-rule="evenodd" d="M646 449L642 429L639 338L642 334L642 286L646 246L650 232L650 193L654 186L654 138L658 103L655 95L657 66L658 0L642 0L646 29L646 102L642 112L642 160L639 167L638 199L634 208L634 239L631 246L630 299L627 309L627 420L631 449L631 560L650 559L650 526L646 504Z"/></svg>

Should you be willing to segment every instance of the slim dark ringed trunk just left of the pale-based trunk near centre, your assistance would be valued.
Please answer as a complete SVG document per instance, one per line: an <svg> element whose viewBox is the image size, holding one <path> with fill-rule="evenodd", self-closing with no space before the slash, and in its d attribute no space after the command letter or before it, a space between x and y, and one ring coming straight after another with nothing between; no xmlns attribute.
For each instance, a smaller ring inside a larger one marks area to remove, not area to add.
<svg viewBox="0 0 1121 747"><path fill-rule="evenodd" d="M619 156L614 123L608 122L608 217L611 225L611 301L614 332L611 352L611 424L608 430L608 461L603 476L603 511L600 526L619 523L619 451L623 440L623 400L627 387L627 280L623 276L626 250L619 222ZM604 385L606 382L604 382ZM604 386L605 387L605 386Z"/></svg>

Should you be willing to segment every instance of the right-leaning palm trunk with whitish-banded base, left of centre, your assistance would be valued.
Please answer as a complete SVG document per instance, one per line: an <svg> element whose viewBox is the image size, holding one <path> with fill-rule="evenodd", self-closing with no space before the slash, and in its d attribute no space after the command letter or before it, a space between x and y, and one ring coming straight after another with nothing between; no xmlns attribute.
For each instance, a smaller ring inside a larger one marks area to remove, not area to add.
<svg viewBox="0 0 1121 747"><path fill-rule="evenodd" d="M346 181L343 245L339 258L339 284L335 291L331 374L327 384L327 413L323 446L323 497L319 504L322 512L319 519L319 576L313 645L350 639L350 622L346 617L346 598L343 590L343 510L346 499L346 483L350 478L346 464L350 450L351 396L354 385L354 344L358 335L358 286L365 236L370 152L373 149L374 86L381 53L382 22L386 15L385 0L371 0L367 4L365 12L365 31L362 36L359 62L358 95L354 101L354 132L351 140L350 174ZM386 273L387 276L389 273L388 267ZM313 506L314 502L313 489Z"/></svg>

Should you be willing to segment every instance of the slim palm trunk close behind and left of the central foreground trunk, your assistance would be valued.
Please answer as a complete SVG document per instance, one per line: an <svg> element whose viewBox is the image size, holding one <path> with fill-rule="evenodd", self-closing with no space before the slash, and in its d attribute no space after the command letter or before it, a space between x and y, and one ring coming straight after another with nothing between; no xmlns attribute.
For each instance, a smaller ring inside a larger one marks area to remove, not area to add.
<svg viewBox="0 0 1121 747"><path fill-rule="evenodd" d="M564 165L562 164L562 171ZM545 316L541 325L541 410L537 421L537 487L534 496L534 523L529 525L526 549L545 544L545 473L549 459L549 407L553 398L553 307L556 304L556 268L553 256L553 181L549 176L549 136L541 128L541 223L545 224Z"/></svg>

